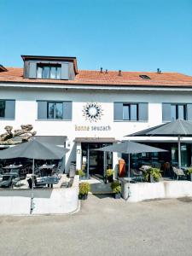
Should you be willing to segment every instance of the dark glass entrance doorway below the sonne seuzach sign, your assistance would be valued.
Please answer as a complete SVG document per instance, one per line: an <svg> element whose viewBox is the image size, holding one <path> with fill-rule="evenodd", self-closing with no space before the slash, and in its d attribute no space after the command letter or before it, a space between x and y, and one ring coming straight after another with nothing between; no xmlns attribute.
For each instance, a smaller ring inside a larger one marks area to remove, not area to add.
<svg viewBox="0 0 192 256"><path fill-rule="evenodd" d="M108 168L113 168L113 154L110 152L96 151L111 143L82 143L82 167L86 176L102 178Z"/></svg>

